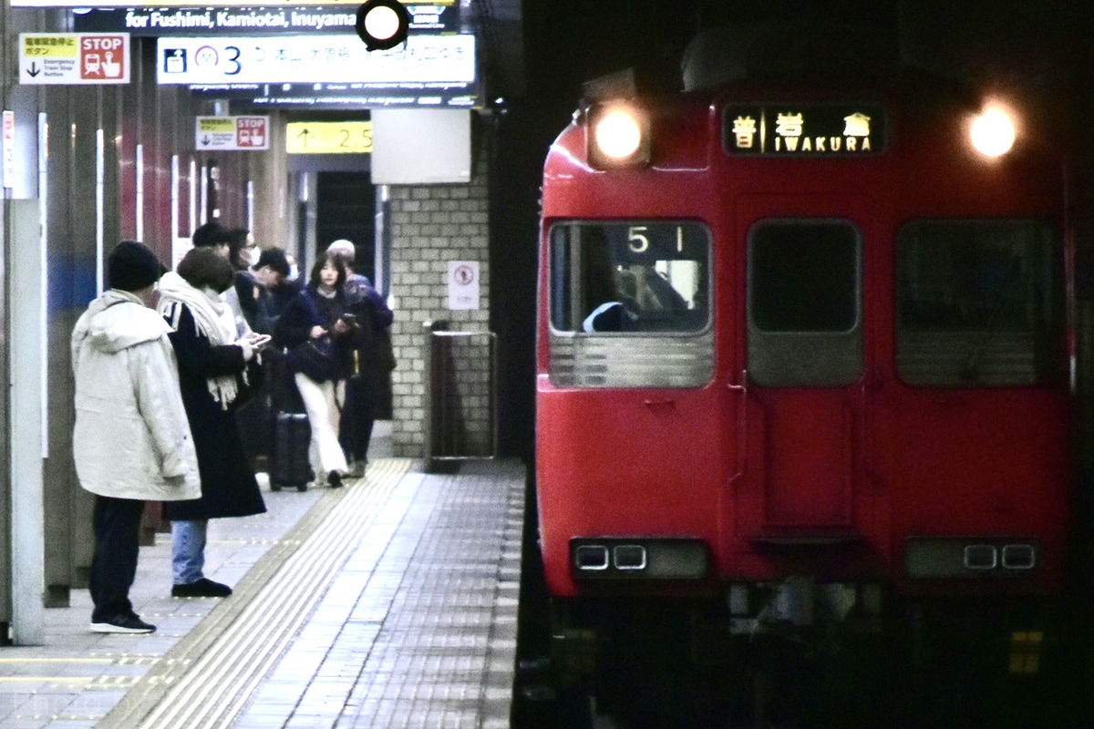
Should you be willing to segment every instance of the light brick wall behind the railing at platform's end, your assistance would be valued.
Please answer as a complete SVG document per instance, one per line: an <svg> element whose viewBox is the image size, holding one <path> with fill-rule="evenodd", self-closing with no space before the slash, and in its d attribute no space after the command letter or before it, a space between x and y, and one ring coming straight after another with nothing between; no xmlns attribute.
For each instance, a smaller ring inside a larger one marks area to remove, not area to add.
<svg viewBox="0 0 1094 729"><path fill-rule="evenodd" d="M393 186L389 192L392 248L391 292L395 322L392 343L398 366L392 373L392 448L395 456L423 455L426 419L424 354L428 341L423 324L450 322L453 331L486 332L490 318L489 198L486 145L478 155L466 185ZM449 261L478 261L479 308L450 310ZM477 338L476 338L477 339ZM479 448L484 423L489 423L490 400L482 397L484 348L451 348L453 369L480 373L470 381L462 374L456 383L456 420L470 427L468 448ZM476 361L468 362L468 357ZM466 396L466 397L465 397ZM469 455L469 454L468 454Z"/></svg>

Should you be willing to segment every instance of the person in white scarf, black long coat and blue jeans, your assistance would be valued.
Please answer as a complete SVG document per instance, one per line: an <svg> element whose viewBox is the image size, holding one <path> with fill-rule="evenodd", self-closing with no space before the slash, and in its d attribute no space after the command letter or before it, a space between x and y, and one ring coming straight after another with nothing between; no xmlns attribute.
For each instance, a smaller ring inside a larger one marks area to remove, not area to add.
<svg viewBox="0 0 1094 729"><path fill-rule="evenodd" d="M194 248L177 272L160 280L156 309L173 331L183 404L194 433L201 498L165 503L171 520L173 597L228 597L232 588L207 578L209 519L251 516L266 510L254 467L243 447L235 409L260 375L257 351L269 337L236 338L235 320L223 292L235 271L212 248Z"/></svg>

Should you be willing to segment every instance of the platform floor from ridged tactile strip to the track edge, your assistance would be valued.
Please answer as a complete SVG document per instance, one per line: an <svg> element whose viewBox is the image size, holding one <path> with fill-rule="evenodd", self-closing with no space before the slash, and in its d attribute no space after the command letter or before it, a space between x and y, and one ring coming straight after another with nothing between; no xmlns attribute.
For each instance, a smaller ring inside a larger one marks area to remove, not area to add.
<svg viewBox="0 0 1094 729"><path fill-rule="evenodd" d="M524 468L386 462L248 573L236 615L218 615L243 602L225 601L173 649L182 675L151 672L156 695L130 691L97 726L508 727Z"/></svg>

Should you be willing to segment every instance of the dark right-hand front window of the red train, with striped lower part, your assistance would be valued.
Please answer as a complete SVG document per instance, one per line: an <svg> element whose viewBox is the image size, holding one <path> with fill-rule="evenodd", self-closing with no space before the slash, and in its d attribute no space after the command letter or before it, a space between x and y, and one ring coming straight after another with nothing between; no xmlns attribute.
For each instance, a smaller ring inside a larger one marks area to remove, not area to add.
<svg viewBox="0 0 1094 729"><path fill-rule="evenodd" d="M1063 377L1062 246L1033 221L917 221L897 238L896 368L909 385Z"/></svg>

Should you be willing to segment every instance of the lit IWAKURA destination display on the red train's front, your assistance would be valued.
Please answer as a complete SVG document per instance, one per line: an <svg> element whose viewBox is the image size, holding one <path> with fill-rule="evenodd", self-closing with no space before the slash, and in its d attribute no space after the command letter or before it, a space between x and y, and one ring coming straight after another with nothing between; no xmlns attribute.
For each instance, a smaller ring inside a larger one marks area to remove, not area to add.
<svg viewBox="0 0 1094 729"><path fill-rule="evenodd" d="M728 154L854 156L885 151L878 104L729 104L722 109Z"/></svg>

